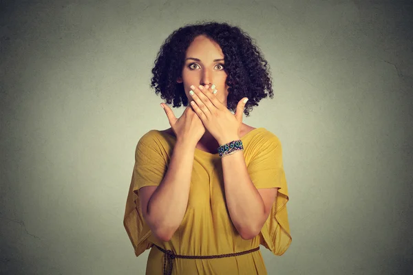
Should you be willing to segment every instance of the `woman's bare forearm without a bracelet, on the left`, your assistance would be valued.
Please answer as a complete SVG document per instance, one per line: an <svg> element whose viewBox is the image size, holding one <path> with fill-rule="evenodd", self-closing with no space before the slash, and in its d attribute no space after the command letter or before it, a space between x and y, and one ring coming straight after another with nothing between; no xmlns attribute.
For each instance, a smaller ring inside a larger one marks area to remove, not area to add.
<svg viewBox="0 0 413 275"><path fill-rule="evenodd" d="M147 220L162 239L170 239L187 210L195 146L176 142L164 179L149 199Z"/></svg>

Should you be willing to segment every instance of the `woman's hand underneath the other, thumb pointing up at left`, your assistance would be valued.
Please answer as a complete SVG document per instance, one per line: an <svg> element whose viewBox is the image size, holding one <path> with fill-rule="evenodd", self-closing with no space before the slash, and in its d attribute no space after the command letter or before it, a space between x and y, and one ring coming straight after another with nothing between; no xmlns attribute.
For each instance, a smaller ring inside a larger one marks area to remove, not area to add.
<svg viewBox="0 0 413 275"><path fill-rule="evenodd" d="M176 135L176 140L193 143L193 145L196 146L205 133L205 127L204 124L202 124L202 120L195 111L193 111L191 105L188 105L180 118L176 118L167 104L161 103L160 105L167 114L169 124Z"/></svg>

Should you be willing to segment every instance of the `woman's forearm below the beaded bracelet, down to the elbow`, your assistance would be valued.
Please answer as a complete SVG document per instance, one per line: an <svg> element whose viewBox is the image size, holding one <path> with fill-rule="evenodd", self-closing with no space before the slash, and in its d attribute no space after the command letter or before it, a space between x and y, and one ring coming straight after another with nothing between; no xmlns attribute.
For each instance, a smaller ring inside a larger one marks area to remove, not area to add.
<svg viewBox="0 0 413 275"><path fill-rule="evenodd" d="M243 239L256 236L264 217L264 201L248 175L242 151L222 157L226 206Z"/></svg>

